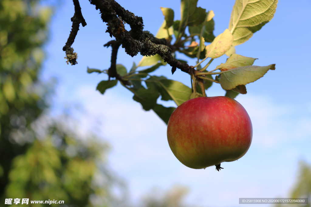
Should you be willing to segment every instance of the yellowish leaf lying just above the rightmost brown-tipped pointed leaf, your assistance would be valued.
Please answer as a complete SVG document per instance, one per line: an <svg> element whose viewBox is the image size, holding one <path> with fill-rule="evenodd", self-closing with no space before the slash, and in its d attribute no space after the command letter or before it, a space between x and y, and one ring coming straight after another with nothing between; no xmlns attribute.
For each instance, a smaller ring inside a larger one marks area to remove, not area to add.
<svg viewBox="0 0 311 207"><path fill-rule="evenodd" d="M232 54L225 63L221 63L216 67L221 71L231 70L233 68L238 68L247 65L253 65L254 61L258 58L245 57L238 54Z"/></svg>

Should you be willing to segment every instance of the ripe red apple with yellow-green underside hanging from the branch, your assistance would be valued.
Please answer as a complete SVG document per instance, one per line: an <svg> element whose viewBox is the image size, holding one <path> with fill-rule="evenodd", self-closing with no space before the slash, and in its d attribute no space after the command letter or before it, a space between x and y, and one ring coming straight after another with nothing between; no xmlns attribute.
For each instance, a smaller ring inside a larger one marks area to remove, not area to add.
<svg viewBox="0 0 311 207"><path fill-rule="evenodd" d="M190 99L174 110L167 125L169 147L193 169L239 159L248 151L252 136L244 107L225 96Z"/></svg>

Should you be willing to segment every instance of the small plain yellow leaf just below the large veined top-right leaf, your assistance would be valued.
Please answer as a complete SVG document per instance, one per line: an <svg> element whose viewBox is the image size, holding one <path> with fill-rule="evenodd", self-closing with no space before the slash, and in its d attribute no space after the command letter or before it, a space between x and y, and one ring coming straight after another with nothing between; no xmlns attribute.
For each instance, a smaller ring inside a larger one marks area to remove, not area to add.
<svg viewBox="0 0 311 207"><path fill-rule="evenodd" d="M225 54L232 46L232 34L229 29L218 35L211 44L205 47L206 57L217 58Z"/></svg>

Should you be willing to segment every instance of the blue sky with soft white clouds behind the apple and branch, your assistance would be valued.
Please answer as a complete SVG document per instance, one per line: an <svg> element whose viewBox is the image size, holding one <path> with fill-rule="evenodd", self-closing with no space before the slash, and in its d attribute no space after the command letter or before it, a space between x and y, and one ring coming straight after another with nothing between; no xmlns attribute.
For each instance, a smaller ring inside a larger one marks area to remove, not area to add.
<svg viewBox="0 0 311 207"><path fill-rule="evenodd" d="M174 9L175 20L180 17L179 1L118 2L142 16L145 30L153 34L163 22L160 7ZM221 172L216 172L214 167L194 170L179 163L169 149L165 124L152 111L143 111L121 85L107 90L104 95L95 91L97 83L107 76L87 74L86 67L109 68L111 48L103 44L111 38L105 33L106 25L95 7L88 1L80 3L87 25L80 27L73 44L78 64L66 65L62 51L74 11L72 1L64 1L52 19L42 77L58 79L53 113L65 105L81 104L87 113L77 115L82 123L77 129L80 133L94 130L93 123L100 120L97 133L112 147L109 165L128 182L133 202L152 187L167 190L174 184L188 187L186 202L198 206L239 206L239 197L288 196L299 160L311 163L309 0L280 1L272 21L236 47L237 54L258 58L254 65L275 63L276 70L248 84L248 94L237 97L252 119L253 142L244 157L222 164L225 169ZM215 35L228 27L233 5L234 0L198 1L198 6L214 11ZM133 61L138 63L141 58L140 55L132 58L120 49L117 63L129 69ZM178 58L195 65L194 59L183 55ZM216 59L210 68L226 58ZM188 74L177 70L172 76L169 66L155 74L164 74L190 86ZM224 91L214 84L207 95L224 95Z"/></svg>

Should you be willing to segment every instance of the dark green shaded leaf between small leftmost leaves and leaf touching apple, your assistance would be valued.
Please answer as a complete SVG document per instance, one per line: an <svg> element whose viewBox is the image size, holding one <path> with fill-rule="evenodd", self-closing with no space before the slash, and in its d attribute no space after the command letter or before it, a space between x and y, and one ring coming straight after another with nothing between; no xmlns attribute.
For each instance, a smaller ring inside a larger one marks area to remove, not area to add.
<svg viewBox="0 0 311 207"><path fill-rule="evenodd" d="M141 87L137 90L132 90L134 93L133 99L142 104L142 108L146 111L156 106L156 100L159 97L159 93L154 87L148 87L148 89Z"/></svg>

